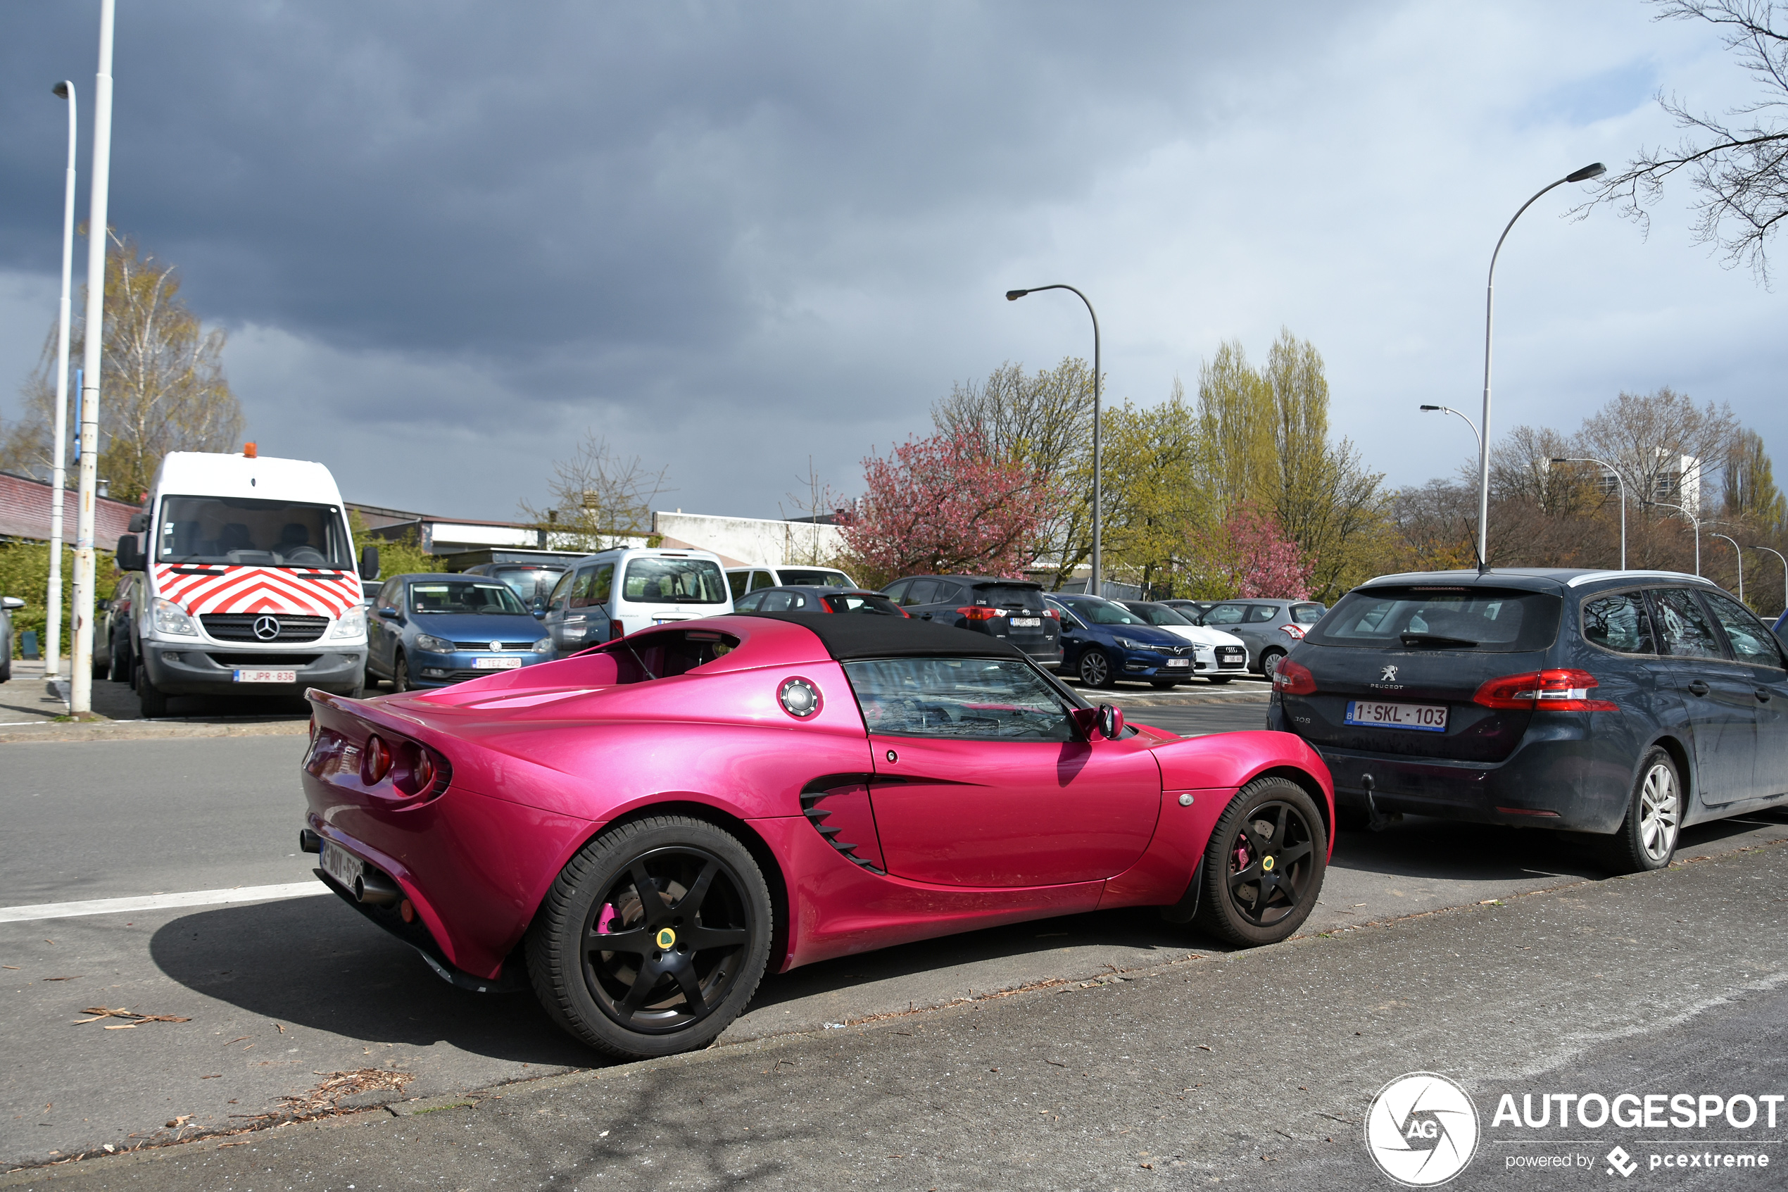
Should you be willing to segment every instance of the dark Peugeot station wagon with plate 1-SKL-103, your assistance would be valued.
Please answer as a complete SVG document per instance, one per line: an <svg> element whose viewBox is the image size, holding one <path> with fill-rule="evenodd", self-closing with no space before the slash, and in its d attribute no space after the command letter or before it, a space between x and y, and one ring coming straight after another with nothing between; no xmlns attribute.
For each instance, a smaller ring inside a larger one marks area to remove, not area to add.
<svg viewBox="0 0 1788 1192"><path fill-rule="evenodd" d="M1598 833L1622 872L1788 801L1783 645L1677 572L1382 575L1278 661L1268 727L1321 752L1343 824Z"/></svg>

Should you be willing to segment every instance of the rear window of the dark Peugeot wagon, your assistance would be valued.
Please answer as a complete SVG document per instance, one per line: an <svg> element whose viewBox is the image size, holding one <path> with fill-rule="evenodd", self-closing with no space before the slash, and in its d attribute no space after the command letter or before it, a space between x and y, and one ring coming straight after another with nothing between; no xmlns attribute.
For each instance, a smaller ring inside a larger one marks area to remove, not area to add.
<svg viewBox="0 0 1788 1192"><path fill-rule="evenodd" d="M1539 651L1557 636L1559 597L1497 588L1355 588L1303 640L1316 645L1411 643L1493 652Z"/></svg>

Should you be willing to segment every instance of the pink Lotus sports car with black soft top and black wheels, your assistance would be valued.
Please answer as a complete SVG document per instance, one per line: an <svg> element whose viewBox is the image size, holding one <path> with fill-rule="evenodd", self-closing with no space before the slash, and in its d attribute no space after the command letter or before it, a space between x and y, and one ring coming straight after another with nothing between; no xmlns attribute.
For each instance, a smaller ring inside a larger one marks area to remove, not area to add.
<svg viewBox="0 0 1788 1192"><path fill-rule="evenodd" d="M765 967L1112 906L1273 944L1334 790L1289 733L1182 740L1003 640L731 615L458 686L309 693L318 877L613 1056L701 1047Z"/></svg>

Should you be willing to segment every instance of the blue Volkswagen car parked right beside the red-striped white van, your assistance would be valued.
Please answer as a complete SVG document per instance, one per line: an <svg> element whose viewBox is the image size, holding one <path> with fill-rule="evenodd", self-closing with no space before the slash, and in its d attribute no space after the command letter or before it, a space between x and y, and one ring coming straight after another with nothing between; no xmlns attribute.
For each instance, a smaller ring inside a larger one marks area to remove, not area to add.
<svg viewBox="0 0 1788 1192"><path fill-rule="evenodd" d="M552 658L510 584L495 575L393 575L372 600L367 674L399 692L447 686Z"/></svg>

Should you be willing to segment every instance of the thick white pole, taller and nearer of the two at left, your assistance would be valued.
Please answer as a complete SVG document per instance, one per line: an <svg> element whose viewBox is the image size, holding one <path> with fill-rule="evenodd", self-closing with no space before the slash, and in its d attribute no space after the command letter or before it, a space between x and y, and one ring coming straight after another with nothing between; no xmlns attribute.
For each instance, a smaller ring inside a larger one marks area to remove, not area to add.
<svg viewBox="0 0 1788 1192"><path fill-rule="evenodd" d="M93 172L88 207L88 318L80 370L80 499L75 508L75 624L68 711L93 711L93 493L100 459L100 352L105 345L105 198L111 186L111 43L114 0L100 0L100 66L93 75Z"/></svg>

